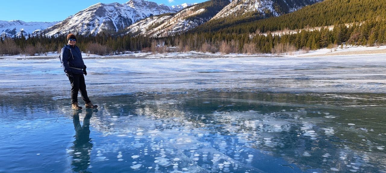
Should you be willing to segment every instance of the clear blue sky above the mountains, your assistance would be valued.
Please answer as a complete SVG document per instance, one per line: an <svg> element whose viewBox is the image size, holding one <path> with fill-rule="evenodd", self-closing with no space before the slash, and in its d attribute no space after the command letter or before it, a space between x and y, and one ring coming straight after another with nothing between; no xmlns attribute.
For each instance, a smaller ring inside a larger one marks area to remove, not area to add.
<svg viewBox="0 0 386 173"><path fill-rule="evenodd" d="M56 22L96 3L126 3L129 0L4 0L0 4L0 20L24 22ZM207 0L147 0L158 4L179 5Z"/></svg>

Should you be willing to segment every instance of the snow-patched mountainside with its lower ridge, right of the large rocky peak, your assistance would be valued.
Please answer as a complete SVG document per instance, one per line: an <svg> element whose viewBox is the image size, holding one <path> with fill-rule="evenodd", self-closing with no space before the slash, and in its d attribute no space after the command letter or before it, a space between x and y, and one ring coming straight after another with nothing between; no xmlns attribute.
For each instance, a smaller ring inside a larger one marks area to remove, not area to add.
<svg viewBox="0 0 386 173"><path fill-rule="evenodd" d="M143 34L150 37L166 37L186 32L199 25L217 25L216 19L244 20L245 18L267 18L294 12L306 5L323 0L210 0L186 8L175 15L149 17L128 27L127 33ZM207 4L207 5L203 5ZM217 6L218 11L213 10ZM210 7L210 8L208 8ZM202 14L202 15L200 15ZM225 21L226 21L225 20ZM209 21L209 22L208 22Z"/></svg>

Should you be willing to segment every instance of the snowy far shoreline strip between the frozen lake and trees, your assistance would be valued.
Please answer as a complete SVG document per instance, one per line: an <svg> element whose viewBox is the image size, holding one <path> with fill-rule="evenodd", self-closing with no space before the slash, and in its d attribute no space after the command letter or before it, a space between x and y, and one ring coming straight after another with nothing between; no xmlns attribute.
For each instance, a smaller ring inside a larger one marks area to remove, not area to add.
<svg viewBox="0 0 386 173"><path fill-rule="evenodd" d="M171 53L125 53L121 55L90 55L82 53L83 59L164 59L164 58L187 58L187 59L212 59L212 58L251 58L251 57L298 57L298 58L307 58L307 57L326 57L326 56L345 56L345 55L383 55L386 54L386 46L380 47L366 47L366 46L356 46L356 47L347 47L347 48L336 48L336 50L323 48L308 53L302 53L302 51L293 52L293 55L276 55L276 54L254 54L247 55L242 53L230 53L227 55L222 55L221 53L202 53L202 52L171 52ZM87 56L88 55L88 56ZM55 59L58 58L58 53L49 53L47 55L35 55L35 56L25 56L25 55L14 55L14 56L3 56L0 57L0 60L46 60L46 59Z"/></svg>

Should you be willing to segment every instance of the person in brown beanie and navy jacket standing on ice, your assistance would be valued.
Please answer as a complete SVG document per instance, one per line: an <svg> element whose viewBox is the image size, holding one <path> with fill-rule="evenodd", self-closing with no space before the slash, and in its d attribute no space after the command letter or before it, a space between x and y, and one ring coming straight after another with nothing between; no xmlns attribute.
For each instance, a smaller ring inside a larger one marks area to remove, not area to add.
<svg viewBox="0 0 386 173"><path fill-rule="evenodd" d="M85 101L85 107L95 109L98 106L93 105L87 96L85 77L83 76L83 74L87 75L86 65L83 62L79 47L75 46L75 44L75 35L71 33L68 34L67 45L64 45L59 55L64 73L66 73L72 87L71 107L74 110L82 109L82 107L78 105L78 91L80 91L80 95L83 101Z"/></svg>

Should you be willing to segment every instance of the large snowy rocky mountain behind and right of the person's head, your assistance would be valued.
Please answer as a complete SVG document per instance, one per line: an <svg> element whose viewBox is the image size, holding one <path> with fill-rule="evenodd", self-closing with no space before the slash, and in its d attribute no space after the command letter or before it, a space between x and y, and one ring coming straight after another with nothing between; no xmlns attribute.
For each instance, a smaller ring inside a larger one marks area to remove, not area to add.
<svg viewBox="0 0 386 173"><path fill-rule="evenodd" d="M143 18L163 13L175 13L189 5L186 3L175 6L158 5L145 0L130 0L123 4L97 3L47 28L46 33L48 35L69 32L82 35L96 35L102 32L116 33Z"/></svg>

